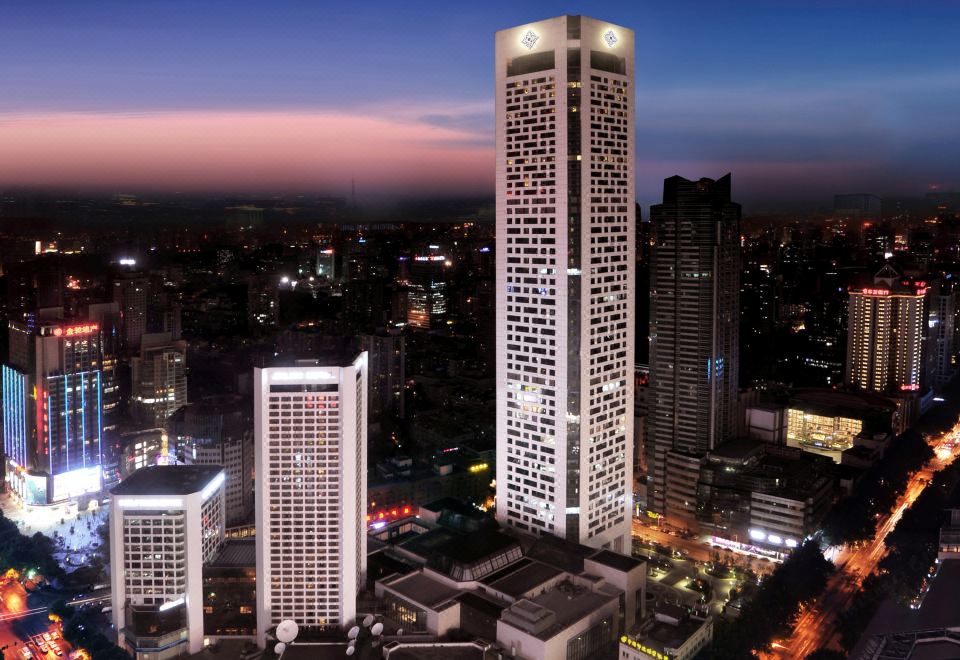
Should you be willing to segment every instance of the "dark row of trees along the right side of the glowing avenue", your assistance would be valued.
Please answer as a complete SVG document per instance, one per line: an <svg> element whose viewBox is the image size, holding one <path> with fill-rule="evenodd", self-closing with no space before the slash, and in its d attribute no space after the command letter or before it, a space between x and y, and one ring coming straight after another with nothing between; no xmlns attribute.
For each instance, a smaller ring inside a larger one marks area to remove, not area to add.
<svg viewBox="0 0 960 660"><path fill-rule="evenodd" d="M944 507L958 485L960 463L954 463L934 475L931 485L887 536L887 554L877 572L863 581L851 606L840 615L838 629L844 648L856 645L884 600L906 605L918 595L937 556Z"/></svg>

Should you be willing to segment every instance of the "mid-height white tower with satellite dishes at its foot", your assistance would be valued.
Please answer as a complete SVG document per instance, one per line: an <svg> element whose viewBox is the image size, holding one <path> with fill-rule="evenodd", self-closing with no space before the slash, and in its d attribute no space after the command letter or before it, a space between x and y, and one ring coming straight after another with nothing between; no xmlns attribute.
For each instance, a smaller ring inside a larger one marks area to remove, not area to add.
<svg viewBox="0 0 960 660"><path fill-rule="evenodd" d="M352 625L367 566L367 354L254 370L257 635Z"/></svg>

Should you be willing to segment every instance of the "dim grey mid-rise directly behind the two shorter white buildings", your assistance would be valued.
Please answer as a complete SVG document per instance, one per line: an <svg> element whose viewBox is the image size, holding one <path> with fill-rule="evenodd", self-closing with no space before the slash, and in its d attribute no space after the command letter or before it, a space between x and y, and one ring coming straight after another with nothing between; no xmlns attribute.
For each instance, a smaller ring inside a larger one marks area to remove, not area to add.
<svg viewBox="0 0 960 660"><path fill-rule="evenodd" d="M227 525L249 522L253 514L253 420L249 401L207 398L184 406L167 421L178 460L185 465L222 465Z"/></svg>

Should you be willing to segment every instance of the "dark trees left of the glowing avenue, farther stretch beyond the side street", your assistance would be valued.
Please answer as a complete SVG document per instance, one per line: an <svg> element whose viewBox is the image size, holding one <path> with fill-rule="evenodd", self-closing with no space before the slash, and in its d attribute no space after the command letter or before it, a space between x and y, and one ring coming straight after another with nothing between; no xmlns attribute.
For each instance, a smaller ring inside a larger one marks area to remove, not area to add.
<svg viewBox="0 0 960 660"><path fill-rule="evenodd" d="M884 457L860 480L857 492L833 507L823 523L831 545L857 543L873 537L877 516L893 507L907 487L910 475L933 458L933 450L916 431L894 439Z"/></svg>

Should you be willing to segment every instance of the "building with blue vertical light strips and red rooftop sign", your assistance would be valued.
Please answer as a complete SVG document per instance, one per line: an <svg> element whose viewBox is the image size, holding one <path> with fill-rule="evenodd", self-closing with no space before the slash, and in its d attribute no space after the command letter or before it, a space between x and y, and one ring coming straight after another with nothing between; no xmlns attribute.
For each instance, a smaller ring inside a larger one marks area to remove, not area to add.
<svg viewBox="0 0 960 660"><path fill-rule="evenodd" d="M49 313L47 313L49 312ZM101 489L100 328L61 308L9 324L3 365L3 441L9 488L26 504Z"/></svg>

